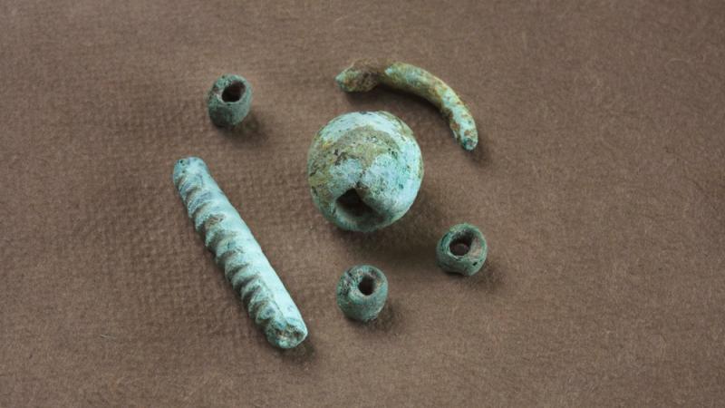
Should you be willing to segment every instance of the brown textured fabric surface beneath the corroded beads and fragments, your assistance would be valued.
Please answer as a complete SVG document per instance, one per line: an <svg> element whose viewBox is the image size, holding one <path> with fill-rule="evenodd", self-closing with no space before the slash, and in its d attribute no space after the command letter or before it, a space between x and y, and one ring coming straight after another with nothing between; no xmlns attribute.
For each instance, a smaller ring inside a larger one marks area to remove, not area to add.
<svg viewBox="0 0 725 408"><path fill-rule="evenodd" d="M725 397L725 5L720 1L0 3L0 405L716 405ZM340 92L358 57L439 75L428 103ZM208 120L221 73L255 89ZM343 112L386 110L425 162L369 236L314 209L305 160ZM266 343L171 182L197 155L309 328ZM459 222L476 277L435 267ZM347 267L385 271L373 325Z"/></svg>

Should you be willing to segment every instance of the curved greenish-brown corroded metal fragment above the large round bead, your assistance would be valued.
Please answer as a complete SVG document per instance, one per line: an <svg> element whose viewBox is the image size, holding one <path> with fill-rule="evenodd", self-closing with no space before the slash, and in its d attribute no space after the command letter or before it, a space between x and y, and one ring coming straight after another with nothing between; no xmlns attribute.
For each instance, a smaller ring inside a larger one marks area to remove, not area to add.
<svg viewBox="0 0 725 408"><path fill-rule="evenodd" d="M438 107L463 149L472 151L478 144L476 121L466 104L448 84L420 67L410 63L360 60L339 73L335 81L344 92L367 92L382 83L416 94Z"/></svg>

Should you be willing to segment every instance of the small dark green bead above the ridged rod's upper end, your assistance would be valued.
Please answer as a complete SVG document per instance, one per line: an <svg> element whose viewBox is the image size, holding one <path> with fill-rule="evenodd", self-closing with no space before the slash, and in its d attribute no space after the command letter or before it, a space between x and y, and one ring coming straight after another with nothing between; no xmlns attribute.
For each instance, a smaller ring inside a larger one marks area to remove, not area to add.
<svg viewBox="0 0 725 408"><path fill-rule="evenodd" d="M226 73L211 86L207 96L209 118L220 128L244 121L252 106L252 85L242 76Z"/></svg>

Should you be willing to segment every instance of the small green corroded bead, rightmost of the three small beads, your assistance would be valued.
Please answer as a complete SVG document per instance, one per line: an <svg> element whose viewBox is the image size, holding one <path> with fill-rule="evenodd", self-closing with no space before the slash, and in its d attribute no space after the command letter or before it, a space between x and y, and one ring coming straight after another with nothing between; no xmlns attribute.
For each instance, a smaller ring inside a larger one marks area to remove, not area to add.
<svg viewBox="0 0 725 408"><path fill-rule="evenodd" d="M446 272L470 277L483 267L488 254L486 238L470 224L451 227L438 242L438 266Z"/></svg>

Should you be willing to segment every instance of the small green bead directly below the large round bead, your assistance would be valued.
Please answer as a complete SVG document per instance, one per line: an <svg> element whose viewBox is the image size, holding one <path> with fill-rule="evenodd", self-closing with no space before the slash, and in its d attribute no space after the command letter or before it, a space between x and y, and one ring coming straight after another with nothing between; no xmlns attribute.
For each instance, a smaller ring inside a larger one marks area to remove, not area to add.
<svg viewBox="0 0 725 408"><path fill-rule="evenodd" d="M337 306L345 316L367 322L380 314L388 298L388 279L371 265L346 270L337 283Z"/></svg>

